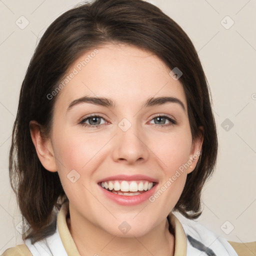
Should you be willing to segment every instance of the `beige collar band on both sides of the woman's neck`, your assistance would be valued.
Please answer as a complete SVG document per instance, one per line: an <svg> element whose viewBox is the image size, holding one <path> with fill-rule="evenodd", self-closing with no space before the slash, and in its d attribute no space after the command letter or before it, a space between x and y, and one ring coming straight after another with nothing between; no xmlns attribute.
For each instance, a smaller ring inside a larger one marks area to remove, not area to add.
<svg viewBox="0 0 256 256"><path fill-rule="evenodd" d="M66 223L68 211L68 202L63 203L57 216L57 228L59 236L68 256L80 256ZM186 256L187 243L183 227L172 212L168 214L167 218L169 223L171 223L173 226L175 233L174 256Z"/></svg>

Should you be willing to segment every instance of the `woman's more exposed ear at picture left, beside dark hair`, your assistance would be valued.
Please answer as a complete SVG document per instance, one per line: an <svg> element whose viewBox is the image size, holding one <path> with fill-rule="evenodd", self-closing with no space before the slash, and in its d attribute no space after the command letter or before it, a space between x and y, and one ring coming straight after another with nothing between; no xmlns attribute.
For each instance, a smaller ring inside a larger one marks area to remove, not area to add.
<svg viewBox="0 0 256 256"><path fill-rule="evenodd" d="M37 156L45 169L52 172L57 171L51 140L43 138L40 127L41 125L34 120L29 122L30 135Z"/></svg>

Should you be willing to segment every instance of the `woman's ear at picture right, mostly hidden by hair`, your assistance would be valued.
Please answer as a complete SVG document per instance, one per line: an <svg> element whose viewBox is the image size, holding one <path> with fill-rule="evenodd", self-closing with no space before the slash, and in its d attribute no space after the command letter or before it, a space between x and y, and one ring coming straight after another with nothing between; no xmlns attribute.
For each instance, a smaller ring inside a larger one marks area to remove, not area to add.
<svg viewBox="0 0 256 256"><path fill-rule="evenodd" d="M198 128L201 130L201 135L195 138L192 143L189 159L187 161L189 164L189 167L187 168L187 174L194 170L201 152L201 147L203 142L203 127L199 126Z"/></svg>

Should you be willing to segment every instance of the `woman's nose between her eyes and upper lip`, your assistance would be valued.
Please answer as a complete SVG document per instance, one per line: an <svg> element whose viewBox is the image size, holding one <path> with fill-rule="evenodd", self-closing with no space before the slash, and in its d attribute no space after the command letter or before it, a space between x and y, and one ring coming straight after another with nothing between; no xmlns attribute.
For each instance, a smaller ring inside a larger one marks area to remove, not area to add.
<svg viewBox="0 0 256 256"><path fill-rule="evenodd" d="M112 157L116 162L134 164L148 159L149 148L142 129L131 125L126 131L117 127Z"/></svg>

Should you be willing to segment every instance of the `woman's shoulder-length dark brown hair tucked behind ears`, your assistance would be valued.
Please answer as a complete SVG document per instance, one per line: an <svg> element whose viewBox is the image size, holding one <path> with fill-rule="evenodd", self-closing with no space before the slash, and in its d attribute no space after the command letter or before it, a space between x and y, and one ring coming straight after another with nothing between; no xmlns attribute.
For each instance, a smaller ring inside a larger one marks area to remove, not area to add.
<svg viewBox="0 0 256 256"><path fill-rule="evenodd" d="M142 0L95 0L75 6L50 24L22 82L12 131L9 174L23 220L29 225L22 238L31 238L32 243L55 231L55 210L67 197L58 173L47 171L39 161L29 121L40 123L47 136L57 98L56 95L49 100L47 95L77 57L109 42L149 50L170 69L178 67L182 71L179 81L186 95L192 139L204 139L199 161L187 175L173 210L191 219L201 214L201 189L216 163L217 135L210 91L197 52L182 28L153 4Z"/></svg>

